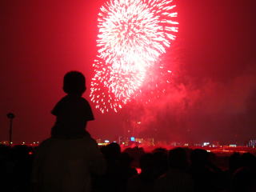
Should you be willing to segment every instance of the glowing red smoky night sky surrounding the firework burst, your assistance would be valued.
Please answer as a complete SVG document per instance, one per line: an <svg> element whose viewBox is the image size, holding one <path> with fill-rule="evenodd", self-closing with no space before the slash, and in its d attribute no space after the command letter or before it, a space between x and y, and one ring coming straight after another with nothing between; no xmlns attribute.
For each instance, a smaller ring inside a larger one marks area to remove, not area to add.
<svg viewBox="0 0 256 192"><path fill-rule="evenodd" d="M62 77L67 71L82 71L90 87L103 2L0 2L0 140L8 138L10 111L17 116L14 142L42 141L50 135L50 110L64 95ZM144 124L138 133L162 139L256 138L256 2L175 2L180 25L166 55L174 72L168 94L118 114L102 115L93 106L96 121L88 125L90 133L115 138L127 119L138 119Z"/></svg>

